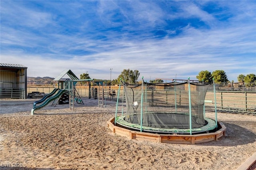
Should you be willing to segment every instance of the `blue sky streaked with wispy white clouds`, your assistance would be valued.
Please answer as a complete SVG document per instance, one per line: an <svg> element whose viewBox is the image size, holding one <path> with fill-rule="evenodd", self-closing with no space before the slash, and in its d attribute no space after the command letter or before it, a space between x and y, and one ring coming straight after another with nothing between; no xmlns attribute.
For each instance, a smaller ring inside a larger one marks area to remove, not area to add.
<svg viewBox="0 0 256 170"><path fill-rule="evenodd" d="M196 79L256 74L256 1L1 0L1 63L30 77Z"/></svg>

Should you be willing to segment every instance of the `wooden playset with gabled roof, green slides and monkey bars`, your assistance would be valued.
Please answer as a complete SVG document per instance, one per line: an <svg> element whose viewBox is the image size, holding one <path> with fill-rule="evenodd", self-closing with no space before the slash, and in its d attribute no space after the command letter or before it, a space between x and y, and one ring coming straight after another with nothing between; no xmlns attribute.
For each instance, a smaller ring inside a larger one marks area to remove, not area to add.
<svg viewBox="0 0 256 170"><path fill-rule="evenodd" d="M63 79L64 75L68 75L70 79ZM52 102L54 107L58 104L69 103L69 109L74 111L74 103L83 104L82 98L76 90L76 84L78 82L87 83L89 87L89 99L98 99L98 107L103 107L104 103L106 106L106 98L104 98L104 82L106 80L99 79L78 79L71 70L64 70L58 77L54 79L58 81L58 88L54 89L48 95L45 95L39 101L34 102L33 108L31 109L31 115L34 115L34 111L42 109L46 105ZM106 83L105 83L106 85ZM105 87L106 89L106 87ZM105 102L104 102L105 99ZM41 104L42 103L42 104ZM40 105L38 105L40 104Z"/></svg>

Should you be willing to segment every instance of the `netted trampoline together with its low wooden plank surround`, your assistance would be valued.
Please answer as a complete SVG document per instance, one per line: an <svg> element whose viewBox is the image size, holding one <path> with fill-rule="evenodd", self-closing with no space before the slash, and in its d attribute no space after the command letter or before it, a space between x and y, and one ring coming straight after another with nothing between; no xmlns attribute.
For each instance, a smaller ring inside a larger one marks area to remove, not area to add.
<svg viewBox="0 0 256 170"><path fill-rule="evenodd" d="M218 140L226 127L205 117L204 101L209 83L122 83L126 113L108 121L108 127L130 139L167 143L199 143ZM120 96L118 90L118 97Z"/></svg>

